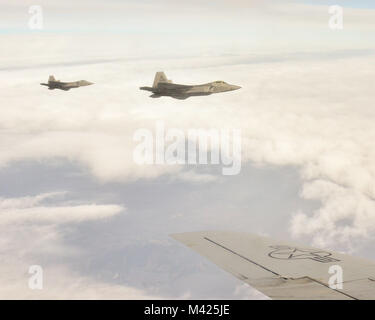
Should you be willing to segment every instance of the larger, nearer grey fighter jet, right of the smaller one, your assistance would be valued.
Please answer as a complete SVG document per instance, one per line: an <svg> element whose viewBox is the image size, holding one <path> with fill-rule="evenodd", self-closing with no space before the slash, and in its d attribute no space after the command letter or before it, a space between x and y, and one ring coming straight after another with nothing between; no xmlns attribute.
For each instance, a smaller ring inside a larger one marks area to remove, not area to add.
<svg viewBox="0 0 375 320"><path fill-rule="evenodd" d="M141 90L152 92L151 98L168 96L184 100L192 96L207 96L213 93L233 91L240 89L240 86L228 84L224 81L214 81L200 85L183 85L172 83L164 72L157 72L152 87L140 87Z"/></svg>

